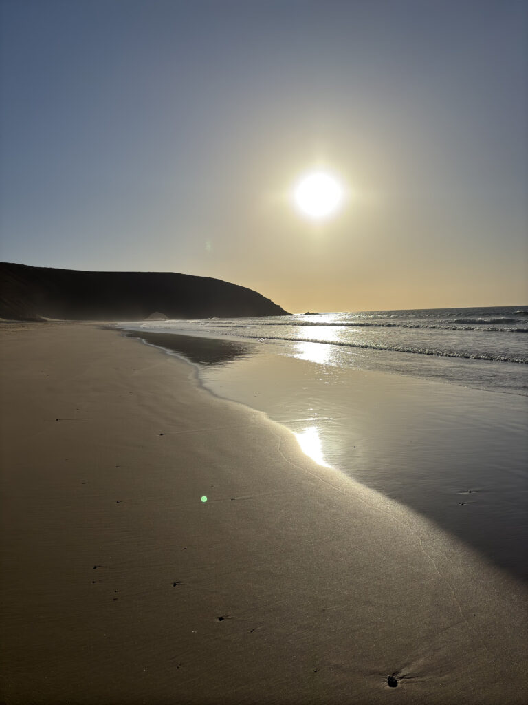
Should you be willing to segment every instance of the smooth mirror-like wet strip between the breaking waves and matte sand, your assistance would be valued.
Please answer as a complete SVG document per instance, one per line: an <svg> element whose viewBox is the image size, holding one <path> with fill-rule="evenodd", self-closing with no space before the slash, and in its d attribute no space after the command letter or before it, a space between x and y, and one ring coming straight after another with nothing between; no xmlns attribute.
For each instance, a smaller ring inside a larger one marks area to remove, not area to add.
<svg viewBox="0 0 528 705"><path fill-rule="evenodd" d="M524 396L340 369L255 342L124 334L194 364L210 393L265 413L296 434L306 455L427 517L527 584Z"/></svg>

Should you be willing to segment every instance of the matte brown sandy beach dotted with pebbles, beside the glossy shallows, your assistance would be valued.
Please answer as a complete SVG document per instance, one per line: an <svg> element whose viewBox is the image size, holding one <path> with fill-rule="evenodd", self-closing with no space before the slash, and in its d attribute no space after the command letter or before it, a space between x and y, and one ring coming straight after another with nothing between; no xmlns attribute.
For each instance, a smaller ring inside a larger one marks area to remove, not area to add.
<svg viewBox="0 0 528 705"><path fill-rule="evenodd" d="M455 539L161 351L2 336L6 702L528 701L526 595Z"/></svg>

